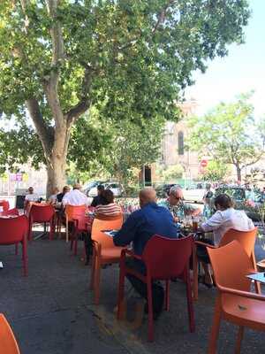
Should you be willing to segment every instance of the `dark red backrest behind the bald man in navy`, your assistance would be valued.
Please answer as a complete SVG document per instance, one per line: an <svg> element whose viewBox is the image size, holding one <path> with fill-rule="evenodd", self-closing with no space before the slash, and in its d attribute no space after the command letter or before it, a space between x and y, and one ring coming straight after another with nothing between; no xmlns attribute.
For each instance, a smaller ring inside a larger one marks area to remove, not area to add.
<svg viewBox="0 0 265 354"><path fill-rule="evenodd" d="M148 240L142 258L153 279L170 279L182 274L193 250L193 236L171 239L154 235Z"/></svg>

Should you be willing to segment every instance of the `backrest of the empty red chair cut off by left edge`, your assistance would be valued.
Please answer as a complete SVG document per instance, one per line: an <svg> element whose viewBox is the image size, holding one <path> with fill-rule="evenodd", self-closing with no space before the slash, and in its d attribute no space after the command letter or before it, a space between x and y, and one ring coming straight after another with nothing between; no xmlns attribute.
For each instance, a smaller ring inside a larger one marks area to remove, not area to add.
<svg viewBox="0 0 265 354"><path fill-rule="evenodd" d="M14 218L0 218L0 244L12 244L23 240L28 231L28 219L25 215Z"/></svg>

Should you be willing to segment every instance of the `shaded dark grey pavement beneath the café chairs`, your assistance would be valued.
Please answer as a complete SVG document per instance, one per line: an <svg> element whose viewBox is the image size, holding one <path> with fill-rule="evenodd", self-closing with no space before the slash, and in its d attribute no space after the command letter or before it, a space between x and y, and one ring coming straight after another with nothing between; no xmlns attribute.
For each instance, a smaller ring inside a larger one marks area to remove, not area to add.
<svg viewBox="0 0 265 354"><path fill-rule="evenodd" d="M1 246L0 312L4 312L18 339L21 354L170 354L207 352L215 289L201 285L194 304L196 332L188 332L185 287L170 285L170 312L155 322L155 342L147 341L147 318L133 322L139 301L130 300L126 321L117 322L118 267L102 270L101 305L93 304L88 289L90 267L73 257L62 240L31 242L29 275L22 276L14 246ZM81 250L79 250L80 254ZM257 246L258 258L264 258ZM136 328L135 328L136 327ZM223 323L218 354L233 353L236 328ZM246 330L242 354L261 354L264 334ZM0 354L4 354L0 348Z"/></svg>

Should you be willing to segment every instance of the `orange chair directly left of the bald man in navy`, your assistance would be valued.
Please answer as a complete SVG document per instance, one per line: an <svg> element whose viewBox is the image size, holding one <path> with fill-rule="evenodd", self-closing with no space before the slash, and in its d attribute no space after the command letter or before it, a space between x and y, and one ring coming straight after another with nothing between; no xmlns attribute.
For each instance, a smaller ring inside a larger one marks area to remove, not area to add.
<svg viewBox="0 0 265 354"><path fill-rule="evenodd" d="M103 265L118 263L123 247L116 247L112 237L102 233L102 230L120 229L123 225L123 214L115 217L98 215L92 224L91 239L93 242L93 257L90 289L95 292L95 304L99 304L101 268Z"/></svg>

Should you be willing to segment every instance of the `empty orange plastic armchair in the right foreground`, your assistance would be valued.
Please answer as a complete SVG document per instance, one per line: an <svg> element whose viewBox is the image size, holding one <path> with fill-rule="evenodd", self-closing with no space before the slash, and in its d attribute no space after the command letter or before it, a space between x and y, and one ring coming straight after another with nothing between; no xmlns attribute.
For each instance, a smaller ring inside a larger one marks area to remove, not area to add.
<svg viewBox="0 0 265 354"><path fill-rule="evenodd" d="M216 354L221 319L239 326L235 353L240 353L244 327L265 331L265 296L250 292L253 264L238 241L217 249L207 248L219 290L208 354Z"/></svg>

